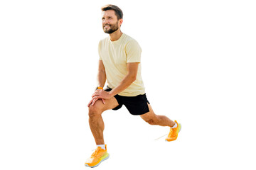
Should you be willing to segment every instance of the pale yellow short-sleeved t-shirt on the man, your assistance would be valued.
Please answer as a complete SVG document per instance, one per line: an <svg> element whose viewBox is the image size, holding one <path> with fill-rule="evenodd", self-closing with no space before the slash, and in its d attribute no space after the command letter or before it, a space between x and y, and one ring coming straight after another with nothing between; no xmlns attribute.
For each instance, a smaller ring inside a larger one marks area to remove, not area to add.
<svg viewBox="0 0 256 170"><path fill-rule="evenodd" d="M119 93L120 96L137 96L145 94L145 88L141 75L141 53L139 43L126 34L111 41L107 37L99 42L99 55L107 75L107 84L111 89L118 86L127 75L127 63L139 62L137 79L127 89Z"/></svg>

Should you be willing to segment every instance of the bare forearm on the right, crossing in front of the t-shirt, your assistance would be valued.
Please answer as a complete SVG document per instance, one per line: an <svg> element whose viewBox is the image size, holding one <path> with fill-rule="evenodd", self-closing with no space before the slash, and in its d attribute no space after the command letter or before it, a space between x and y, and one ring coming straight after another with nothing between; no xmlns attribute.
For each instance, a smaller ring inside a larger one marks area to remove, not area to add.
<svg viewBox="0 0 256 170"><path fill-rule="evenodd" d="M116 94L119 94L120 92L127 89L127 87L129 87L132 84L132 82L135 80L136 80L136 77L134 75L127 74L127 76L124 77L124 79L122 79L121 83L118 86L116 86L114 89L112 89L112 91L110 91L110 95L114 96Z"/></svg>

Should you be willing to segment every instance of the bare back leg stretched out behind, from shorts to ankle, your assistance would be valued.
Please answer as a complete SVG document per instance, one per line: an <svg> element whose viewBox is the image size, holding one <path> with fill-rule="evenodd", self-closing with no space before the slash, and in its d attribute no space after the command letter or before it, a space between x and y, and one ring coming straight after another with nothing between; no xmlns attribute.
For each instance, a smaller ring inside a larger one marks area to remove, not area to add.
<svg viewBox="0 0 256 170"><path fill-rule="evenodd" d="M145 113L144 115L141 115L141 118L145 120L147 123L149 123L150 125L161 125L169 127L173 127L175 125L173 120L170 120L165 115L156 115L151 106L149 104L148 106L149 112Z"/></svg>

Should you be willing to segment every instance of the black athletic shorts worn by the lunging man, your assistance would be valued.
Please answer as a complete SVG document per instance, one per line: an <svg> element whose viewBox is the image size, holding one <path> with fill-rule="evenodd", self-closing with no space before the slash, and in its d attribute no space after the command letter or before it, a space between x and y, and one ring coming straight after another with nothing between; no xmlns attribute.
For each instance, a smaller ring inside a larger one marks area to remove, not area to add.
<svg viewBox="0 0 256 170"><path fill-rule="evenodd" d="M105 91L111 91L109 87ZM114 96L119 103L119 106L113 108L112 110L116 111L121 108L123 105L128 109L129 113L132 115L143 115L149 112L149 106L147 103L149 101L146 98L146 94L140 94L138 96L119 96L118 94ZM150 104L150 103L149 103Z"/></svg>

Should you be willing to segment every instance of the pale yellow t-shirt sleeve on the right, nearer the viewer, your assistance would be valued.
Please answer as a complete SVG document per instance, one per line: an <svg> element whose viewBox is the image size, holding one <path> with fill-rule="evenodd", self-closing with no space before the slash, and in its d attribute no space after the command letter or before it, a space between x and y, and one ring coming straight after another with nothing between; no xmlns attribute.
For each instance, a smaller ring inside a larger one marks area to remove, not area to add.
<svg viewBox="0 0 256 170"><path fill-rule="evenodd" d="M142 48L136 40L130 40L126 47L127 62L141 62Z"/></svg>

